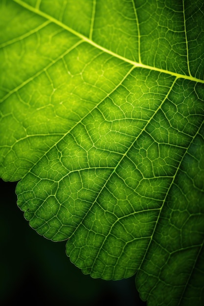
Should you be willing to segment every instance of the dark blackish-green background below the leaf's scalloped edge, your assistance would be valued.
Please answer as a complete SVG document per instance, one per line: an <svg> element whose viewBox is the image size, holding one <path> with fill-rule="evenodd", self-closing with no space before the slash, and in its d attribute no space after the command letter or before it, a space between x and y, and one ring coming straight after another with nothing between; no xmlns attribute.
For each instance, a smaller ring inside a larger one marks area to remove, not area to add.
<svg viewBox="0 0 204 306"><path fill-rule="evenodd" d="M92 279L69 261L66 241L52 242L30 228L16 203L16 185L0 180L0 305L146 305L135 277Z"/></svg>

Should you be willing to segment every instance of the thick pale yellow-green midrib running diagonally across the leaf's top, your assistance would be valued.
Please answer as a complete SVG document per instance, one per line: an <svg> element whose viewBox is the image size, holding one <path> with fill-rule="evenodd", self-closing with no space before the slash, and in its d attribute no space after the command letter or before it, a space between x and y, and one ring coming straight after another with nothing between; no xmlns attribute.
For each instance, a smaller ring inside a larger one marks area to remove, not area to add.
<svg viewBox="0 0 204 306"><path fill-rule="evenodd" d="M183 75L183 74L176 73L176 72L173 72L173 71L168 71L168 70L165 70L165 69L161 69L161 68L157 68L157 67L153 67L153 66L149 66L149 65L142 64L142 63L137 63L137 62L131 61L131 60L129 60L129 59L117 54L117 53L114 53L113 51L111 51L109 49L104 48L103 46L101 46L99 44L94 43L88 37L84 36L83 34L77 32L75 30L73 30L72 28L70 28L69 26L64 24L63 22L60 22L59 20L55 19L54 17L40 11L39 9L36 9L35 7L30 6L29 4L23 2L22 0L13 0L13 1L20 4L24 8L28 9L29 11L32 11L32 12L44 17L45 19L49 20L50 22L54 22L55 24L61 26L62 28L64 28L68 32L70 32L70 33L76 35L77 37L79 37L80 39L82 39L84 42L87 42L88 44L91 44L95 48L100 49L103 52L108 53L108 54L112 55L113 57L116 57L116 58L118 58L118 59L120 59L124 62L127 62L127 63L133 65L134 67L141 67L141 68L145 68L145 69L155 70L155 71L159 71L159 72L162 72L162 73L171 74L171 75L173 75L177 78L182 78L182 79L191 80L191 81L195 81L195 82L199 82L199 83L204 84L204 80L200 80L200 79L197 79L197 78L192 77L192 76Z"/></svg>

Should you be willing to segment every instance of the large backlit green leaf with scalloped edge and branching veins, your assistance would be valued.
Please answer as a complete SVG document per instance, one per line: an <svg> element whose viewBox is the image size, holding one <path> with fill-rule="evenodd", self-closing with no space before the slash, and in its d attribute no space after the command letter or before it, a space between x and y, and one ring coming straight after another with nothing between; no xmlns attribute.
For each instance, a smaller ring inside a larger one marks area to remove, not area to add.
<svg viewBox="0 0 204 306"><path fill-rule="evenodd" d="M204 4L1 0L0 176L85 274L204 302Z"/></svg>

